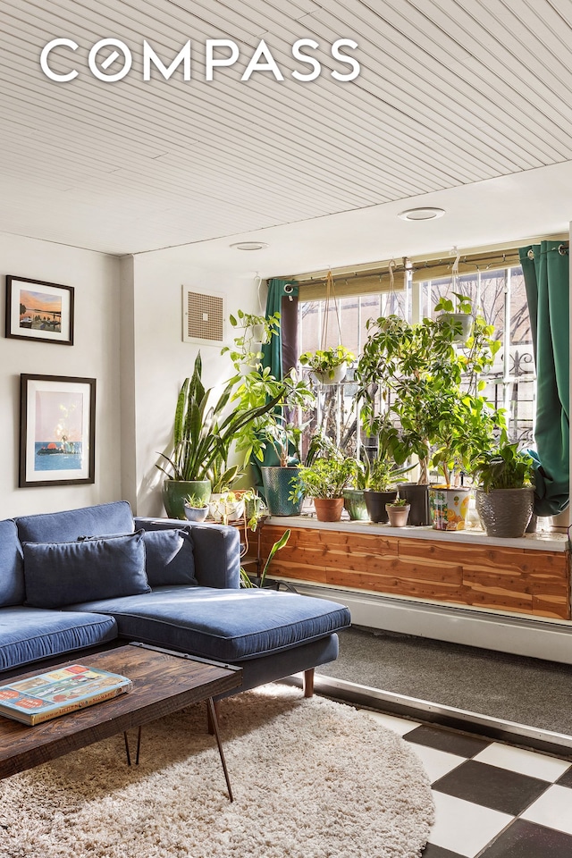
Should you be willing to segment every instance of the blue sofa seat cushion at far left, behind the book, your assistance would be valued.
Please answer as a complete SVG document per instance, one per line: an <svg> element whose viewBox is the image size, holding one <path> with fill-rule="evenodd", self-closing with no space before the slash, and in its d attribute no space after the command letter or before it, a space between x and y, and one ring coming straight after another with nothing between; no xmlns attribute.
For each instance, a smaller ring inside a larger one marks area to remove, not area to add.
<svg viewBox="0 0 572 858"><path fill-rule="evenodd" d="M117 637L113 617L14 606L0 609L0 671Z"/></svg>

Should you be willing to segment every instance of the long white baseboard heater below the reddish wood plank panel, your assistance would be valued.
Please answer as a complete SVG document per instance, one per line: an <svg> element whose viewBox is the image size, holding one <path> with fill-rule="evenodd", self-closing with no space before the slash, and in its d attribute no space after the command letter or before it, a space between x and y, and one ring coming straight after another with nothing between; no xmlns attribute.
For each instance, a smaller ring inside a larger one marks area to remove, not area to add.
<svg viewBox="0 0 572 858"><path fill-rule="evenodd" d="M516 617L299 581L291 583L299 593L347 605L354 626L572 664L572 623L566 620Z"/></svg>

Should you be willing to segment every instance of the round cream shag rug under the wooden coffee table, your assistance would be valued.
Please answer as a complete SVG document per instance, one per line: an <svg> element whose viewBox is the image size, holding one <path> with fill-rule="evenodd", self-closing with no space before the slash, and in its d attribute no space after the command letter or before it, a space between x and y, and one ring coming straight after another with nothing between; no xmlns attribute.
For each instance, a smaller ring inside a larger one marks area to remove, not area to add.
<svg viewBox="0 0 572 858"><path fill-rule="evenodd" d="M138 767L115 736L0 781L2 858L421 854L425 770L366 713L268 685L223 700L220 727L234 803L203 702L144 727Z"/></svg>

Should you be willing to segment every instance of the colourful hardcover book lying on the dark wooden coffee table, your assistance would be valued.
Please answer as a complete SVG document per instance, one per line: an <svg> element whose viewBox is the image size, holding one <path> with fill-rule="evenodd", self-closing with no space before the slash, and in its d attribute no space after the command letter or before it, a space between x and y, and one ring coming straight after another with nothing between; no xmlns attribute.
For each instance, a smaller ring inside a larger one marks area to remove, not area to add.
<svg viewBox="0 0 572 858"><path fill-rule="evenodd" d="M40 724L131 690L128 677L71 664L0 686L0 715Z"/></svg>

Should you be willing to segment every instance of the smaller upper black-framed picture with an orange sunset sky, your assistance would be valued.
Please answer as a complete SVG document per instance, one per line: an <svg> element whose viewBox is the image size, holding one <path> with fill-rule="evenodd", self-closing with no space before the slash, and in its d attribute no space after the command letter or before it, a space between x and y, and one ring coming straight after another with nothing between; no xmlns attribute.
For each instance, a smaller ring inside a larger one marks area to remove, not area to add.
<svg viewBox="0 0 572 858"><path fill-rule="evenodd" d="M8 274L6 336L73 345L73 287Z"/></svg>

